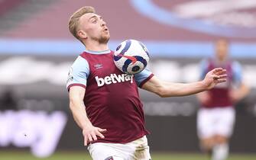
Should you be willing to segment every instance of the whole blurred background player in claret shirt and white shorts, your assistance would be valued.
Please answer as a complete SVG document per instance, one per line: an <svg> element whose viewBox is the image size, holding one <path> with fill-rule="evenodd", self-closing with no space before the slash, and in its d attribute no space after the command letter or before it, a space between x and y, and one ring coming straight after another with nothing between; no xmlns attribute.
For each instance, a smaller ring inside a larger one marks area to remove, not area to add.
<svg viewBox="0 0 256 160"><path fill-rule="evenodd" d="M209 152L212 160L228 157L228 139L235 123L233 104L248 94L248 87L242 82L241 66L228 57L228 42L221 39L215 43L215 57L201 62L201 78L215 67L227 71L227 82L209 91L197 94L201 108L197 117L200 146Z"/></svg>

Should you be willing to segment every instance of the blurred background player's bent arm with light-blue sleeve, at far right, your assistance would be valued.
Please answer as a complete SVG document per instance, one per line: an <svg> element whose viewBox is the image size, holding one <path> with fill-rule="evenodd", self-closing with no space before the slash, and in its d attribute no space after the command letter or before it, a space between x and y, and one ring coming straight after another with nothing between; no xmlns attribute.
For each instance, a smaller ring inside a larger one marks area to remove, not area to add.
<svg viewBox="0 0 256 160"><path fill-rule="evenodd" d="M235 88L232 88L230 97L234 102L245 98L245 96L250 92L250 88L245 84L242 78L241 70L241 65L238 62L232 63L232 82L235 84Z"/></svg>

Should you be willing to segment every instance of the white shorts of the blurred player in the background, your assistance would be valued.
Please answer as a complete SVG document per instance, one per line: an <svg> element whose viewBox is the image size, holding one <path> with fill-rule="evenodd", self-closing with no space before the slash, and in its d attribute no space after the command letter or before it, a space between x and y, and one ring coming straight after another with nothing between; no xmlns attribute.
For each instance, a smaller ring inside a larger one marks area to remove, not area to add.
<svg viewBox="0 0 256 160"><path fill-rule="evenodd" d="M197 133L199 139L214 135L230 137L235 123L233 107L201 108L197 115Z"/></svg>

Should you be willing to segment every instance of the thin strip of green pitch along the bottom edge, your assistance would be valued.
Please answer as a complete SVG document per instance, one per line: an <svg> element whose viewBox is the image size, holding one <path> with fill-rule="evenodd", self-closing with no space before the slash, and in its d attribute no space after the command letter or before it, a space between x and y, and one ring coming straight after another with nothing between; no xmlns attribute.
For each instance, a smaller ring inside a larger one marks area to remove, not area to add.
<svg viewBox="0 0 256 160"><path fill-rule="evenodd" d="M209 160L206 155L190 153L151 153L154 160ZM256 155L232 154L228 160L255 160ZM29 152L0 151L0 160L91 160L85 152L56 152L49 158L35 158Z"/></svg>

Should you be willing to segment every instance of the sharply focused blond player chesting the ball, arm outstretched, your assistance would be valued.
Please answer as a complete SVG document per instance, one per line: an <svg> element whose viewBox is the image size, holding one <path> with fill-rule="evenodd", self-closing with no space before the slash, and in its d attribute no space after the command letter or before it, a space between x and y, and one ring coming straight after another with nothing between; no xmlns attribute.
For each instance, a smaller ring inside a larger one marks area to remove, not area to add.
<svg viewBox="0 0 256 160"><path fill-rule="evenodd" d="M170 97L196 94L226 81L222 68L212 69L203 81L189 84L162 82L147 69L126 75L113 62L109 28L89 6L73 13L69 29L86 46L67 79L70 110L94 160L151 159L138 87Z"/></svg>

